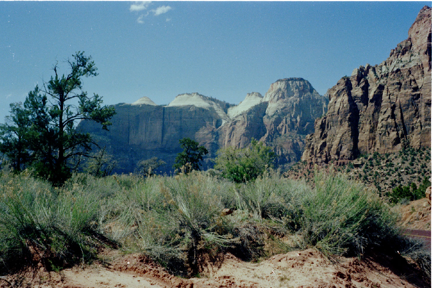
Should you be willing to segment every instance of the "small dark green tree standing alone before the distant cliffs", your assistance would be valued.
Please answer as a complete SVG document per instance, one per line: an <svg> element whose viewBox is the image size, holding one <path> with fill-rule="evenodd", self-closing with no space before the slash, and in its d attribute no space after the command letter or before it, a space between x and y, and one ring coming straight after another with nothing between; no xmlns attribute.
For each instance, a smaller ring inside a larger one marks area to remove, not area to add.
<svg viewBox="0 0 432 288"><path fill-rule="evenodd" d="M188 174L192 170L200 170L200 161L203 160L203 155L209 152L204 146L199 146L200 143L190 138L180 139L180 146L183 152L177 154L175 158L174 169L184 167L184 172Z"/></svg>

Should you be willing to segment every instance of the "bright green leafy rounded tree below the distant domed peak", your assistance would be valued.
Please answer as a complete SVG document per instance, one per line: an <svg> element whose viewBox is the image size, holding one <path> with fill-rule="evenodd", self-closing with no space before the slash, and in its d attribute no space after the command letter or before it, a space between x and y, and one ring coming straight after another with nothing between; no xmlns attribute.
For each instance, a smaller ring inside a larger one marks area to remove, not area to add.
<svg viewBox="0 0 432 288"><path fill-rule="evenodd" d="M222 172L222 177L236 183L255 180L267 168L273 168L276 158L271 147L264 146L263 142L253 138L246 148L227 147L219 149L217 154L215 169Z"/></svg>

